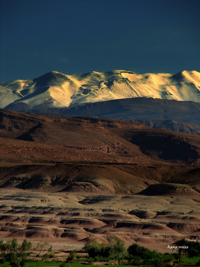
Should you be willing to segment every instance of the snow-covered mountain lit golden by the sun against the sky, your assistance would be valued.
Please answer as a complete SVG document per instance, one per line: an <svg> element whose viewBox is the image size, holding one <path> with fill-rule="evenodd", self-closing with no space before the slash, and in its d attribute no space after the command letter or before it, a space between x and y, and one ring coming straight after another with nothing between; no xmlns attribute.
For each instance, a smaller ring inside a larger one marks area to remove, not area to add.
<svg viewBox="0 0 200 267"><path fill-rule="evenodd" d="M65 75L48 72L33 80L14 80L0 84L0 107L12 110L17 107L18 111L74 107L133 97L200 102L200 73L136 74L112 70L106 73Z"/></svg>

